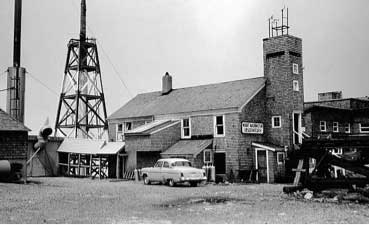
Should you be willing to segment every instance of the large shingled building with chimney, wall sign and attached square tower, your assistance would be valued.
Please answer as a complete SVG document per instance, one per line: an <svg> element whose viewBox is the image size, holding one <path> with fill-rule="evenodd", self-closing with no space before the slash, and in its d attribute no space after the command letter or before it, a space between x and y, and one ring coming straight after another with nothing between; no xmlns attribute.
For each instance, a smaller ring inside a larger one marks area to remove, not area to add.
<svg viewBox="0 0 369 225"><path fill-rule="evenodd" d="M255 169L260 182L283 179L286 150L302 142L302 40L265 38L263 49L263 77L172 89L166 74L162 91L110 115L109 139L125 142L125 169L183 157L227 179L249 179Z"/></svg>

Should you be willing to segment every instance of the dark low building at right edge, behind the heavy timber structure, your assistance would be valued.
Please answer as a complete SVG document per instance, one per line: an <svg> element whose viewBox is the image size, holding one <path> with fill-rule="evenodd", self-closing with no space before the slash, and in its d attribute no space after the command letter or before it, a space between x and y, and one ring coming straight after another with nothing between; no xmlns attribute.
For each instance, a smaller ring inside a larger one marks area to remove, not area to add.
<svg viewBox="0 0 369 225"><path fill-rule="evenodd" d="M338 97L332 93L339 93ZM369 99L341 97L342 92L320 93L319 101L305 102L305 132L311 139L331 140L332 147L327 150L332 154L368 152L369 146L357 146L356 143L367 143L365 140L369 140ZM346 147L334 147L337 141L346 143ZM348 175L345 169L337 166L333 166L333 171L335 177Z"/></svg>

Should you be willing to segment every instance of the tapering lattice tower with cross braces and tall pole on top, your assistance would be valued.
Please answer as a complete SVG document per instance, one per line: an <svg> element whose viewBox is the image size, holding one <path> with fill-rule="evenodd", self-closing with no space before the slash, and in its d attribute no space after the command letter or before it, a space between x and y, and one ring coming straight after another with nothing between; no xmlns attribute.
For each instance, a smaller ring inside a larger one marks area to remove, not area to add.
<svg viewBox="0 0 369 225"><path fill-rule="evenodd" d="M96 40L86 38L86 1L81 0L80 39L68 43L55 135L101 139L107 129Z"/></svg>

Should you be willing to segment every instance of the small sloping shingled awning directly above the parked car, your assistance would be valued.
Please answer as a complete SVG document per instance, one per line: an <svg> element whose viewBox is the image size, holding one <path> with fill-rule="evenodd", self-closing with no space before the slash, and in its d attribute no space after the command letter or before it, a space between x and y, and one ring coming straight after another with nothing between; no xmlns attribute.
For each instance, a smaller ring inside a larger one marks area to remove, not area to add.
<svg viewBox="0 0 369 225"><path fill-rule="evenodd" d="M213 139L205 140L180 140L165 152L160 153L162 156L175 156L175 155L193 155L197 156L204 149L211 146Z"/></svg>

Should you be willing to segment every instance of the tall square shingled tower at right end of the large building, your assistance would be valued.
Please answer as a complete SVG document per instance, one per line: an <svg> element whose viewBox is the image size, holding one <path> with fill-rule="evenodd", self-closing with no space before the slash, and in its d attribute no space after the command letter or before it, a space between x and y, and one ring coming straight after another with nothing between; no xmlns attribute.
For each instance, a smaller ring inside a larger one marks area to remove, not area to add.
<svg viewBox="0 0 369 225"><path fill-rule="evenodd" d="M302 142L302 40L288 34L265 38L263 57L266 137L273 144L294 149Z"/></svg>

